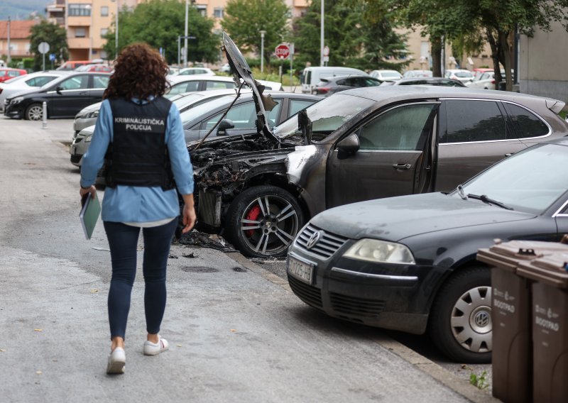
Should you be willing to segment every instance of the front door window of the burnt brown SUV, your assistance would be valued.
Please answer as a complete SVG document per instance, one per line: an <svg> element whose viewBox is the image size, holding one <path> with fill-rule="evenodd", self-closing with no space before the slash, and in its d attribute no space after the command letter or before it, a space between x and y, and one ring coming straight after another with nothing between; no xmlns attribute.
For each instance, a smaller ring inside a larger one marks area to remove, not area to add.
<svg viewBox="0 0 568 403"><path fill-rule="evenodd" d="M422 133L436 104L403 105L386 111L359 131L361 150L421 150Z"/></svg>

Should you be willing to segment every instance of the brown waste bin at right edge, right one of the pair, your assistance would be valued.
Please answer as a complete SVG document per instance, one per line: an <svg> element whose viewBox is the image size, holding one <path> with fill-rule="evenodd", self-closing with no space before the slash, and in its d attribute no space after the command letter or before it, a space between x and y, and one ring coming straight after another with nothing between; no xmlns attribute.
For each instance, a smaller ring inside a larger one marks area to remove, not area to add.
<svg viewBox="0 0 568 403"><path fill-rule="evenodd" d="M535 402L568 402L568 253L522 263L532 280L532 362Z"/></svg>

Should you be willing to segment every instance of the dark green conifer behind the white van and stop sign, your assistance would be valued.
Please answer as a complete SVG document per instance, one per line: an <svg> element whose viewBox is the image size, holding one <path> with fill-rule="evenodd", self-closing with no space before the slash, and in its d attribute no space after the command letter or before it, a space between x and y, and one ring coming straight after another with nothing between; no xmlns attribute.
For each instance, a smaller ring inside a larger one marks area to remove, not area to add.
<svg viewBox="0 0 568 403"><path fill-rule="evenodd" d="M384 14L370 11L366 0L326 0L324 40L331 50L329 65L400 70L408 64L389 61L406 55L404 35L393 31ZM321 3L312 1L305 16L294 23L300 64L320 62L320 21Z"/></svg>

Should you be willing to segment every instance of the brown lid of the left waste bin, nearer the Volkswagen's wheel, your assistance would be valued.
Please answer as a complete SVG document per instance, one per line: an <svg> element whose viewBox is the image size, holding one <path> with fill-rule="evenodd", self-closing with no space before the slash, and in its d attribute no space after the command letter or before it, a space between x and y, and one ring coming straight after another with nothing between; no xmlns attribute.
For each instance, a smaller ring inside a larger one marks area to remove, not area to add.
<svg viewBox="0 0 568 403"><path fill-rule="evenodd" d="M515 271L522 262L529 262L552 253L567 253L568 245L562 242L545 241L508 241L496 244L491 248L479 249L477 260L503 270Z"/></svg>

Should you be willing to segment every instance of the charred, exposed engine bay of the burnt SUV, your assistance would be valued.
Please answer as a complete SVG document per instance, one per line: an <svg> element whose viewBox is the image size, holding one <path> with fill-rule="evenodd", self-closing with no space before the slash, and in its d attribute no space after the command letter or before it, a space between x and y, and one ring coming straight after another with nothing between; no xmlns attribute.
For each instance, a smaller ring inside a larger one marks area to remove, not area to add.
<svg viewBox="0 0 568 403"><path fill-rule="evenodd" d="M297 142L278 143L261 135L231 136L207 141L190 156L195 182L201 190L217 190L227 195L244 186L251 177L268 173L285 175L285 157Z"/></svg>

